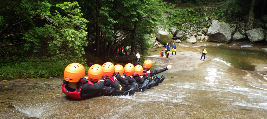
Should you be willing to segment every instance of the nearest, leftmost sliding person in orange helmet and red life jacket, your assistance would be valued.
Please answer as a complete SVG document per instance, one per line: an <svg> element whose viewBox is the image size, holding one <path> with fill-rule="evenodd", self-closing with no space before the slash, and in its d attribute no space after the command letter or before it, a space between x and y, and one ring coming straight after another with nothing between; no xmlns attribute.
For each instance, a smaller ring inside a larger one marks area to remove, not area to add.
<svg viewBox="0 0 267 119"><path fill-rule="evenodd" d="M110 87L104 87L104 80L92 83L88 77L84 77L85 69L79 63L72 63L65 68L64 80L61 86L62 92L74 99L84 99L99 95L134 95L136 85L128 91L120 91ZM102 74L103 75L103 74Z"/></svg>

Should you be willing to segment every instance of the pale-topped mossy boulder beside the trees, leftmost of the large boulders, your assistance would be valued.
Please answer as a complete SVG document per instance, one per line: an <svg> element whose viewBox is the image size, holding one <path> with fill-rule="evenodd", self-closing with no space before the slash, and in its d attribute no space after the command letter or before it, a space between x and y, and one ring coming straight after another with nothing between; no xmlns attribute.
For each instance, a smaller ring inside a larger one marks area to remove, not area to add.
<svg viewBox="0 0 267 119"><path fill-rule="evenodd" d="M168 32L167 30L164 30L161 27L158 27L158 31L156 32L156 36L157 36L158 40L160 41L160 43L162 43L162 44L171 43L171 41L172 41L171 33Z"/></svg>

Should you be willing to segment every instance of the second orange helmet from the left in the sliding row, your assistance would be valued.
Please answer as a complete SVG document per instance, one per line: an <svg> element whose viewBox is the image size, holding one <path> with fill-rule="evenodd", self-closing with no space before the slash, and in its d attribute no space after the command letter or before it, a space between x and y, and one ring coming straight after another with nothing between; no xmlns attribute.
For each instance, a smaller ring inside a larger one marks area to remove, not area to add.
<svg viewBox="0 0 267 119"><path fill-rule="evenodd" d="M94 64L88 70L88 78L92 79L93 82L98 82L103 77L103 68L101 65Z"/></svg>

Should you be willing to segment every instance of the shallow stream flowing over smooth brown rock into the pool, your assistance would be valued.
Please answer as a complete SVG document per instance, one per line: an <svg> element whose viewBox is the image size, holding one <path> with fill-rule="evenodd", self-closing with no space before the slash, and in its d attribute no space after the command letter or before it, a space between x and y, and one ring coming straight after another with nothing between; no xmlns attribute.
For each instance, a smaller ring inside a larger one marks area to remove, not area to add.
<svg viewBox="0 0 267 119"><path fill-rule="evenodd" d="M0 118L264 119L267 118L267 54L259 47L266 46L244 41L177 43L177 54L170 55L170 59L159 57L163 48L151 49L152 55L147 58L153 61L153 69L169 64L173 68L159 74L166 76L163 83L134 96L73 100L61 92L61 78L13 85L0 83L4 90L0 99L8 98L7 102L14 107L8 113L1 110ZM204 62L199 59L205 47L208 55Z"/></svg>

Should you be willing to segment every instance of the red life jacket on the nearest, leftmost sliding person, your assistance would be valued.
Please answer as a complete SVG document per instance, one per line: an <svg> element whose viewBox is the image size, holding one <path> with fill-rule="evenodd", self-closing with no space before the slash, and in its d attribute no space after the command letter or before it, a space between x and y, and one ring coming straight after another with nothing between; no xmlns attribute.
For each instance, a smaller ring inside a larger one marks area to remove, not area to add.
<svg viewBox="0 0 267 119"><path fill-rule="evenodd" d="M92 84L92 82L90 82L90 80L88 79L81 79L79 82L77 82L77 87L76 87L76 90L74 92L70 92L68 90L66 90L66 84L67 84L67 81L64 80L63 83L62 83L62 86L61 86L61 89L62 89L62 93L64 93L65 95L71 97L71 98L74 98L74 99L83 99L83 98L87 98L88 96L85 96L85 97L81 97L81 88L82 88L82 85L85 84L85 83L88 83L88 84Z"/></svg>

